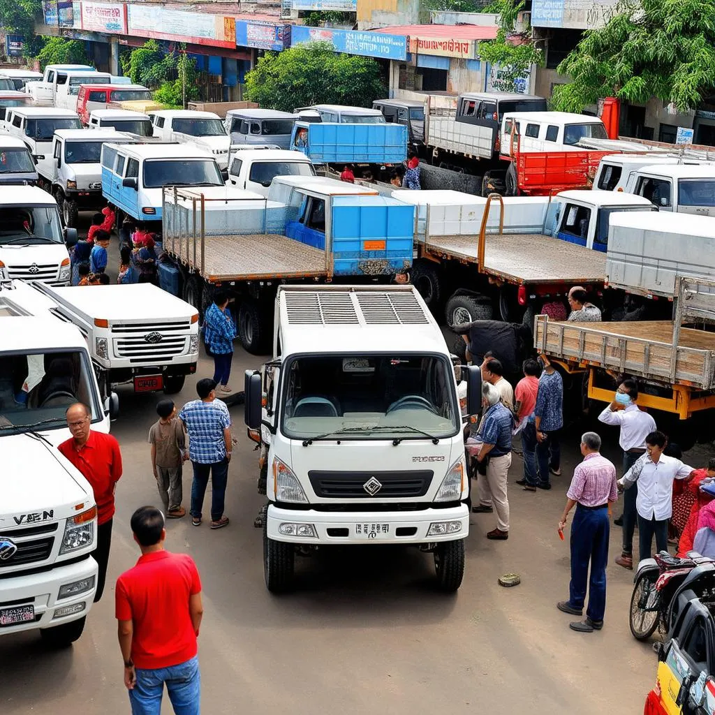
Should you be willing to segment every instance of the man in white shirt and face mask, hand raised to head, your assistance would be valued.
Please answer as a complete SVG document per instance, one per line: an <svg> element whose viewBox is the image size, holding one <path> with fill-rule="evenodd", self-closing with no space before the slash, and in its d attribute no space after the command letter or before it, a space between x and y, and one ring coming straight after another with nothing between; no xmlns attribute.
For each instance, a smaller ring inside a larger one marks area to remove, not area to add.
<svg viewBox="0 0 715 715"><path fill-rule="evenodd" d="M623 380L618 385L613 402L598 415L598 420L606 425L620 425L621 435L618 444L623 450L623 474L625 474L646 453L646 437L656 430L656 420L647 412L641 411L638 402L638 383L636 380ZM616 524L623 526L623 551L616 558L618 566L633 568L633 531L636 528L636 499L638 483L633 483L623 494L623 516Z"/></svg>

